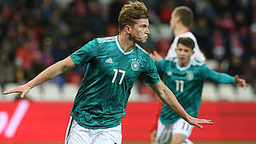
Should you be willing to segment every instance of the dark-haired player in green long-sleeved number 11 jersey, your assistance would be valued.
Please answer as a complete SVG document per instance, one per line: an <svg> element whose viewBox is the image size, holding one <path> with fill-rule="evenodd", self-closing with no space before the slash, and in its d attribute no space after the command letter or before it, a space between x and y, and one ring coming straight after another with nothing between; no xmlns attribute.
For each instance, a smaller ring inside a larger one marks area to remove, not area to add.
<svg viewBox="0 0 256 144"><path fill-rule="evenodd" d="M162 81L174 92L178 102L186 112L198 117L201 105L202 86L206 80L226 84L236 84L246 88L246 81L238 76L210 70L206 64L192 58L194 41L191 38L179 38L175 49L178 58L165 58L155 62ZM188 137L194 126L184 121L180 116L162 103L160 118L158 119L158 144L193 143Z"/></svg>

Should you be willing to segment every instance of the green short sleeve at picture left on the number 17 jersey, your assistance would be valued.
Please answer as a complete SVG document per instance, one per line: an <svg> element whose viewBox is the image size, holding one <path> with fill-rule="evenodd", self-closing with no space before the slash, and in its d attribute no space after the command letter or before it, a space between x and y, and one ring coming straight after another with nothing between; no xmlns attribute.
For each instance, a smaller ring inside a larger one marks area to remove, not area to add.
<svg viewBox="0 0 256 144"><path fill-rule="evenodd" d="M84 66L89 63L92 58L95 58L98 54L99 44L97 39L94 39L80 49L76 50L70 55L76 66Z"/></svg>

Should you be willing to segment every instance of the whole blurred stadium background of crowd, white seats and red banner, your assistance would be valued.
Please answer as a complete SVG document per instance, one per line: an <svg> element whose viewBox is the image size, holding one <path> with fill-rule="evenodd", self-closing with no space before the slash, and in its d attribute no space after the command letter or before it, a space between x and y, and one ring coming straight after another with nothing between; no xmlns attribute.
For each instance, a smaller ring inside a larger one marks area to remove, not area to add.
<svg viewBox="0 0 256 144"><path fill-rule="evenodd" d="M0 91L28 82L92 38L117 34L118 11L124 2L0 0ZM194 11L191 31L206 55L207 65L220 72L239 74L249 84L247 90L242 90L206 82L200 116L212 118L215 125L205 126L203 130L195 129L192 140L256 142L256 1L143 2L149 10L151 32L147 42L142 44L143 48L149 52L157 50L165 56L174 38L170 32L170 14L175 6L189 6ZM30 142L36 136L42 142L62 142L70 106L85 68L71 70L35 87L27 94L29 101L14 101L18 94L1 93L0 142ZM138 80L124 118L124 142L150 141L150 128L157 106L154 92ZM42 138L40 134L50 134L49 131L56 135Z"/></svg>

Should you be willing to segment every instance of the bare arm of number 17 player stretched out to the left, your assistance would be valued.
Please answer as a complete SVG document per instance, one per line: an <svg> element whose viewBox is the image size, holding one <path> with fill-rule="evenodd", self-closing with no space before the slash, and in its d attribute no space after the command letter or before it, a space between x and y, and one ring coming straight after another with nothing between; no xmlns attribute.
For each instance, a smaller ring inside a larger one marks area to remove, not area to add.
<svg viewBox="0 0 256 144"><path fill-rule="evenodd" d="M75 65L72 59L70 57L67 57L64 60L59 61L54 65L48 67L46 70L43 70L42 73L38 74L38 76L32 79L30 82L27 82L22 86L15 87L12 90L6 90L3 92L3 94L21 93L21 98L24 98L25 94L27 94L34 86L38 86L42 82L46 82L51 78L55 78L59 74L63 74L67 70L71 70L72 68L74 68L74 66Z"/></svg>

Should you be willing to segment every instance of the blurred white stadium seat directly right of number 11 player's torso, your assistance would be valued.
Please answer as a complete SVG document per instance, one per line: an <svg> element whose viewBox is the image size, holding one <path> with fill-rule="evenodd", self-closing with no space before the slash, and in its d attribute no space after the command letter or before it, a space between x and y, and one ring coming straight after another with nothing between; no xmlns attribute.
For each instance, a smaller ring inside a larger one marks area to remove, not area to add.
<svg viewBox="0 0 256 144"><path fill-rule="evenodd" d="M214 83L205 82L202 88L202 101L216 102L218 100L218 90Z"/></svg>

